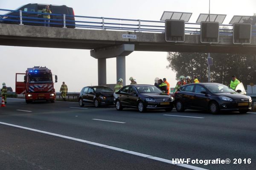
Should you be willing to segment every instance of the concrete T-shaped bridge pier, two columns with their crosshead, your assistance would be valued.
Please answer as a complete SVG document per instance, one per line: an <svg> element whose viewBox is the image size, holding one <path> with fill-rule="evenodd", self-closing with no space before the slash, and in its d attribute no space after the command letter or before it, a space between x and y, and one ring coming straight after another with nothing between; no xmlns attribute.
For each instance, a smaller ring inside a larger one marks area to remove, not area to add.
<svg viewBox="0 0 256 170"><path fill-rule="evenodd" d="M125 56L134 51L134 44L122 44L107 48L94 49L90 55L98 59L98 85L107 84L106 59L116 57L116 80L122 78L125 84ZM116 82L114 82L116 83Z"/></svg>

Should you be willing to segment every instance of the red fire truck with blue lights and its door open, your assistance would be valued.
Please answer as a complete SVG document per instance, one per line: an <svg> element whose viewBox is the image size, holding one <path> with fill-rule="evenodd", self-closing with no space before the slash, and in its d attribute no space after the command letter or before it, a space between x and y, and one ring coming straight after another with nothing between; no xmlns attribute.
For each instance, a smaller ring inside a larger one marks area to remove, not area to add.
<svg viewBox="0 0 256 170"><path fill-rule="evenodd" d="M24 75L24 81L18 82L17 76ZM55 75L55 82L58 81ZM34 66L26 73L16 73L16 94L25 94L26 103L33 101L55 102L55 89L52 81L52 71L46 67Z"/></svg>

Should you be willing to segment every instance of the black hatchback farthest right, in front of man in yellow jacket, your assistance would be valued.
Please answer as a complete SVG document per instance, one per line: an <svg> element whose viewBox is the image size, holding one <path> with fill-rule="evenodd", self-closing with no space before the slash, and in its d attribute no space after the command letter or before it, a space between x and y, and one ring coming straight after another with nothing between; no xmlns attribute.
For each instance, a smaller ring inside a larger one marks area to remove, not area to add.
<svg viewBox="0 0 256 170"><path fill-rule="evenodd" d="M182 86L175 92L175 108L178 112L185 109L219 111L239 111L246 113L252 109L250 96L239 94L239 90L219 83L198 83Z"/></svg>

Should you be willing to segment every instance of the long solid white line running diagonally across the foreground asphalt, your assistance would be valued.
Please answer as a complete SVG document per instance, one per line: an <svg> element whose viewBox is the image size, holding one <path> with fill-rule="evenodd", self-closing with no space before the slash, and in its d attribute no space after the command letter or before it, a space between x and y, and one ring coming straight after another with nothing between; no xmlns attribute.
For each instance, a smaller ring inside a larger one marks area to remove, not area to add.
<svg viewBox="0 0 256 170"><path fill-rule="evenodd" d="M29 127L23 127L23 126L19 126L19 125L13 125L13 124L5 123L5 122L0 122L0 124L1 125L12 126L12 127L17 127L17 128L20 128L20 129L31 130L31 131L34 131L34 132L44 133L44 134L48 134L48 135L52 135L52 136L57 136L57 137L61 137L61 138L64 138L64 139L70 139L70 140L73 140L73 141L79 141L79 142L82 142L82 143L93 144L93 145L96 145L96 146L99 146L99 147L105 147L105 148L108 148L108 149L111 149L111 150L116 150L116 151L120 151L120 152L123 152L123 153L129 153L129 154L132 154L132 155L141 156L143 158L154 159L154 160L165 162L165 163L168 163L168 164L173 164L173 165L177 165L177 166L181 166L181 167L186 167L186 168L189 168L189 169L192 169L192 170L207 170L207 169L204 169L204 168L201 168L201 167L195 167L195 166L192 166L192 165L189 165L189 164L174 164L169 159L163 159L163 158L159 158L159 157L155 157L155 156L150 156L150 155L146 155L146 154L143 154L143 153L138 153L138 152L134 152L134 151L130 151L130 150L125 150L125 149L118 148L118 147L112 147L112 146L108 146L108 145L105 145L105 144L90 142L90 141L86 141L86 140L83 140L83 139L77 139L77 138L73 138L73 137L70 137L70 136L64 136L64 135L60 135L60 134L56 134L56 133L50 133L50 132L46 132L46 131L42 131L42 130L32 129L32 128L29 128Z"/></svg>

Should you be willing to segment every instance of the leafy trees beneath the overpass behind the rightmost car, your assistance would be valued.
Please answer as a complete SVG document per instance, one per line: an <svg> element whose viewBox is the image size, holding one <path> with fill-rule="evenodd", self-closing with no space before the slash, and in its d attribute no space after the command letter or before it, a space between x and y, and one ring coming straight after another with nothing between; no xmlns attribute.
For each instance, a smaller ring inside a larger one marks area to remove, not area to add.
<svg viewBox="0 0 256 170"><path fill-rule="evenodd" d="M243 82L245 88L250 82L256 84L256 62L253 61L255 54L217 54L211 53L214 65L211 66L210 80L225 85L230 84L232 75ZM179 53L169 52L167 61L175 71L176 79L181 75L198 76L201 82L208 81L207 53Z"/></svg>

